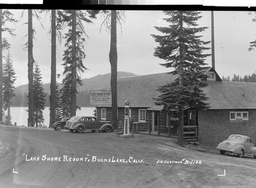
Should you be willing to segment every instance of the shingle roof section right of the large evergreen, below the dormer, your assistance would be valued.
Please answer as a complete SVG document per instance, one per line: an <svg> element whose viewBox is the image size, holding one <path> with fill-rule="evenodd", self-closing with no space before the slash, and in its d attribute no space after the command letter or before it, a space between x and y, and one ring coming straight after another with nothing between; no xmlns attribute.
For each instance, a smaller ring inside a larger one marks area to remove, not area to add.
<svg viewBox="0 0 256 188"><path fill-rule="evenodd" d="M208 81L204 88L210 109L256 109L256 83Z"/></svg>

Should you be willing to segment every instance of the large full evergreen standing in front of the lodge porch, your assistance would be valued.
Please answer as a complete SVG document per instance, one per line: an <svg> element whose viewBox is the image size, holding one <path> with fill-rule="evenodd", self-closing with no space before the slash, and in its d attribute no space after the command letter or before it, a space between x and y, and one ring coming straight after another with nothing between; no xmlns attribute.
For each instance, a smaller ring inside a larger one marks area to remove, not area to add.
<svg viewBox="0 0 256 188"><path fill-rule="evenodd" d="M164 11L169 16L164 18L169 22L169 27L155 27L164 35L152 35L159 46L155 49L154 56L166 61L161 64L169 68L173 67L171 74L179 75L173 83L160 86L158 90L161 95L156 98L156 105L163 105L165 110L176 109L179 112L178 144L184 146L183 126L184 126L184 108L191 107L195 109L207 108L206 96L202 88L206 83L203 65L204 58L210 54L202 54L209 48L203 45L201 36L196 34L207 29L206 27L197 27L196 21L201 18L197 11Z"/></svg>

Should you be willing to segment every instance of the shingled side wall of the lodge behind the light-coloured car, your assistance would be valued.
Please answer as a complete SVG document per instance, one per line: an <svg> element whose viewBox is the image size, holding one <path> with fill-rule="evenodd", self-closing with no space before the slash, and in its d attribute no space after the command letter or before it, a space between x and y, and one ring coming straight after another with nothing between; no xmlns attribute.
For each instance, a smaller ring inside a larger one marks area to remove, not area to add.
<svg viewBox="0 0 256 188"><path fill-rule="evenodd" d="M248 111L248 120L229 120L230 111ZM199 144L203 149L215 149L230 134L249 136L256 146L256 110L205 110L198 114Z"/></svg>

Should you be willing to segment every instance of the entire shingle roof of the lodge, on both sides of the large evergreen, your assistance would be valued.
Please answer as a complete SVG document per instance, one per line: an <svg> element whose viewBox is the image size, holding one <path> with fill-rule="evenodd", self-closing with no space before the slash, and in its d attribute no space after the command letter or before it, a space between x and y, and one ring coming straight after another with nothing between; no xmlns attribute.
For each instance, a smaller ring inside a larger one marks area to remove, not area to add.
<svg viewBox="0 0 256 188"><path fill-rule="evenodd" d="M209 70L207 69L207 72ZM117 105L124 107L124 101L129 100L130 107L156 108L153 98L161 94L156 89L158 86L173 82L176 78L178 75L167 73L120 78L117 82ZM206 82L208 86L203 90L208 97L206 102L210 104L209 109L256 109L256 83Z"/></svg>

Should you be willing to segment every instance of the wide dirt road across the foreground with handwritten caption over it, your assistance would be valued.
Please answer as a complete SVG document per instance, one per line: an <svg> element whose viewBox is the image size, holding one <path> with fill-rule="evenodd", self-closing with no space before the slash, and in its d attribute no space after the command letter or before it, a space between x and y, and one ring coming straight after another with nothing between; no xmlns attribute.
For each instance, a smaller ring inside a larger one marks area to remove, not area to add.
<svg viewBox="0 0 256 188"><path fill-rule="evenodd" d="M253 187L256 159L176 139L0 126L0 187Z"/></svg>

